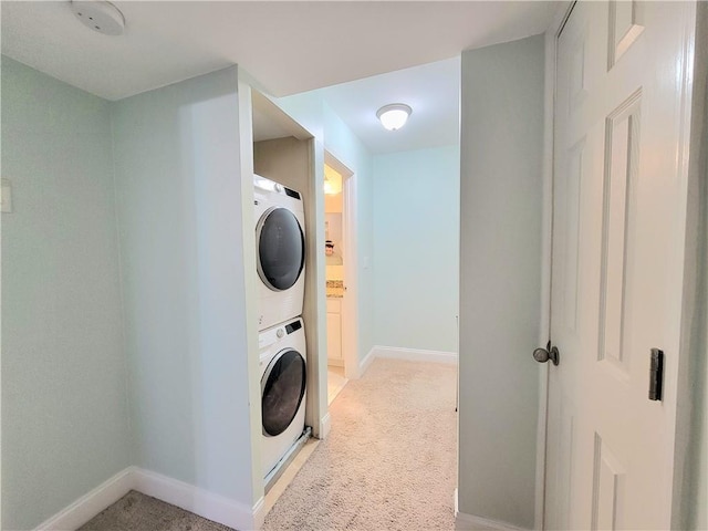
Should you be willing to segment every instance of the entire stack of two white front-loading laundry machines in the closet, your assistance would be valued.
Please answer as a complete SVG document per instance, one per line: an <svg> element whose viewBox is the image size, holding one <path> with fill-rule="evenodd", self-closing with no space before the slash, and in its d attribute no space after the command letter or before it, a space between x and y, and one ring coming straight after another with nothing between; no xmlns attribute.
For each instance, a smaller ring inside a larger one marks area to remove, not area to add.
<svg viewBox="0 0 708 531"><path fill-rule="evenodd" d="M253 176L262 460L267 488L305 429L305 230L300 192Z"/></svg>

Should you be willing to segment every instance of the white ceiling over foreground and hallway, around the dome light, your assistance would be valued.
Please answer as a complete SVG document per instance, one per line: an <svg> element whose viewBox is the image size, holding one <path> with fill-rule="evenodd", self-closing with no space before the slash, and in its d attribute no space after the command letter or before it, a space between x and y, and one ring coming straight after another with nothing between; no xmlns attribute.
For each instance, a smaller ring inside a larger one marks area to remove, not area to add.
<svg viewBox="0 0 708 531"><path fill-rule="evenodd" d="M2 53L107 100L231 64L275 96L327 87L332 108L374 153L456 142L459 59L450 58L541 33L555 9L535 1L114 4L126 20L122 37L82 25L67 0L3 0ZM385 135L375 112L395 102L414 112L396 136Z"/></svg>

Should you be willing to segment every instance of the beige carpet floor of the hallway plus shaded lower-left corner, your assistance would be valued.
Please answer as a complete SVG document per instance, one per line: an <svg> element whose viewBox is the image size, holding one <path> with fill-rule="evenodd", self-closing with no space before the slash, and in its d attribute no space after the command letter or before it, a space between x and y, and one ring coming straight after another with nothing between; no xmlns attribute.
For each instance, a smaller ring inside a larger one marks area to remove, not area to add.
<svg viewBox="0 0 708 531"><path fill-rule="evenodd" d="M330 436L278 500L263 529L455 529L455 378L454 365L375 360L332 404ZM121 519L122 511L106 518L124 500L82 531L227 529L189 513L195 520L187 521L185 511L167 504L159 511L150 506L157 520L139 511L131 521ZM170 520L168 509L181 513Z"/></svg>

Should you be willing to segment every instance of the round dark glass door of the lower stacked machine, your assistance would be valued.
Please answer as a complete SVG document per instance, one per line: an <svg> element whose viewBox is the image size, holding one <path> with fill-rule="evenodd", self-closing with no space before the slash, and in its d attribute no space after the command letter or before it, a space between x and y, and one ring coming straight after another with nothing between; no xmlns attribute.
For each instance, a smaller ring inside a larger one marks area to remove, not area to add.
<svg viewBox="0 0 708 531"><path fill-rule="evenodd" d="M271 360L261 378L263 435L282 434L295 418L305 394L305 361L298 351L287 348Z"/></svg>

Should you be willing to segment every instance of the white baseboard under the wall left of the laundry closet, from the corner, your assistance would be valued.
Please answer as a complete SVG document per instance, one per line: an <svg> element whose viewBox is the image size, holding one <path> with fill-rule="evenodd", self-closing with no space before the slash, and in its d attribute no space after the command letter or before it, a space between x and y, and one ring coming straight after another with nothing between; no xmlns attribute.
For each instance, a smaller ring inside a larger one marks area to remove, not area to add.
<svg viewBox="0 0 708 531"><path fill-rule="evenodd" d="M149 470L135 471L135 490L230 528L256 528L257 502L249 507L220 494Z"/></svg>

